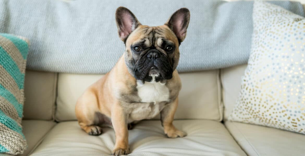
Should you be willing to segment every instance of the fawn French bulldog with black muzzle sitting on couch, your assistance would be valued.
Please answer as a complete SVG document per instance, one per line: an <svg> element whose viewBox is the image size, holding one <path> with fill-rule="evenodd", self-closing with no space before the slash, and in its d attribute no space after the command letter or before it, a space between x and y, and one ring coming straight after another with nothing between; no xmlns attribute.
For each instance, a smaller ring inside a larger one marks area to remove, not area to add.
<svg viewBox="0 0 305 156"><path fill-rule="evenodd" d="M75 113L89 135L102 134L101 126L115 131L113 155L129 154L128 129L160 113L167 137L186 133L173 125L181 80L176 70L179 46L185 39L190 12L181 8L162 26L142 25L124 7L115 13L118 34L126 50L104 77L77 100Z"/></svg>

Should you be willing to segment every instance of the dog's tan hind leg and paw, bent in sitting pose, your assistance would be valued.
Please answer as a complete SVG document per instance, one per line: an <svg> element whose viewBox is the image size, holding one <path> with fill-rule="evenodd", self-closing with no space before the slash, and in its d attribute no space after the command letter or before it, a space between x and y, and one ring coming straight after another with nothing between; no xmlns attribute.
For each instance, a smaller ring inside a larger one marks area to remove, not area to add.
<svg viewBox="0 0 305 156"><path fill-rule="evenodd" d="M96 112L99 112L96 96L92 92L85 92L76 103L75 113L78 124L89 135L102 134L102 128L97 126Z"/></svg>

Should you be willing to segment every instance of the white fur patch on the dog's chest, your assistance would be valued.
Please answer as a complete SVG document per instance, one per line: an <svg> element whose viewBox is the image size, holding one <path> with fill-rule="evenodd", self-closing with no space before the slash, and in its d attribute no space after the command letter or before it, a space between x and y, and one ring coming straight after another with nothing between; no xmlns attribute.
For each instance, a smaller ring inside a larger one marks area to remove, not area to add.
<svg viewBox="0 0 305 156"><path fill-rule="evenodd" d="M138 96L141 102L154 102L155 104L162 101L169 100L169 90L160 82L144 84L137 84Z"/></svg>

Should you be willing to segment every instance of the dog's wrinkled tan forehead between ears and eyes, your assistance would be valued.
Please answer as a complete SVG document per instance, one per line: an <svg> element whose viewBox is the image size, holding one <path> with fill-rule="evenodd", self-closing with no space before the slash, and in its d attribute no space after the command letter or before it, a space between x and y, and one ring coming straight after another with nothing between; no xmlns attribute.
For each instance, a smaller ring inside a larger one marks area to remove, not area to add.
<svg viewBox="0 0 305 156"><path fill-rule="evenodd" d="M177 37L167 26L139 26L128 36L126 47L134 44L142 44L145 47L161 47L163 42L172 43L179 47Z"/></svg>

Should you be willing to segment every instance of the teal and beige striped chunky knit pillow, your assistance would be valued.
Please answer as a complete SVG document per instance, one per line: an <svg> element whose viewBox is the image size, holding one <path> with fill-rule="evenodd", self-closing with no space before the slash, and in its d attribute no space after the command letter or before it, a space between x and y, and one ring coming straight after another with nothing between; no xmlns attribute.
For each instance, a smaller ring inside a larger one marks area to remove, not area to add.
<svg viewBox="0 0 305 156"><path fill-rule="evenodd" d="M26 39L0 33L0 153L22 154L27 147L21 127L27 53Z"/></svg>

